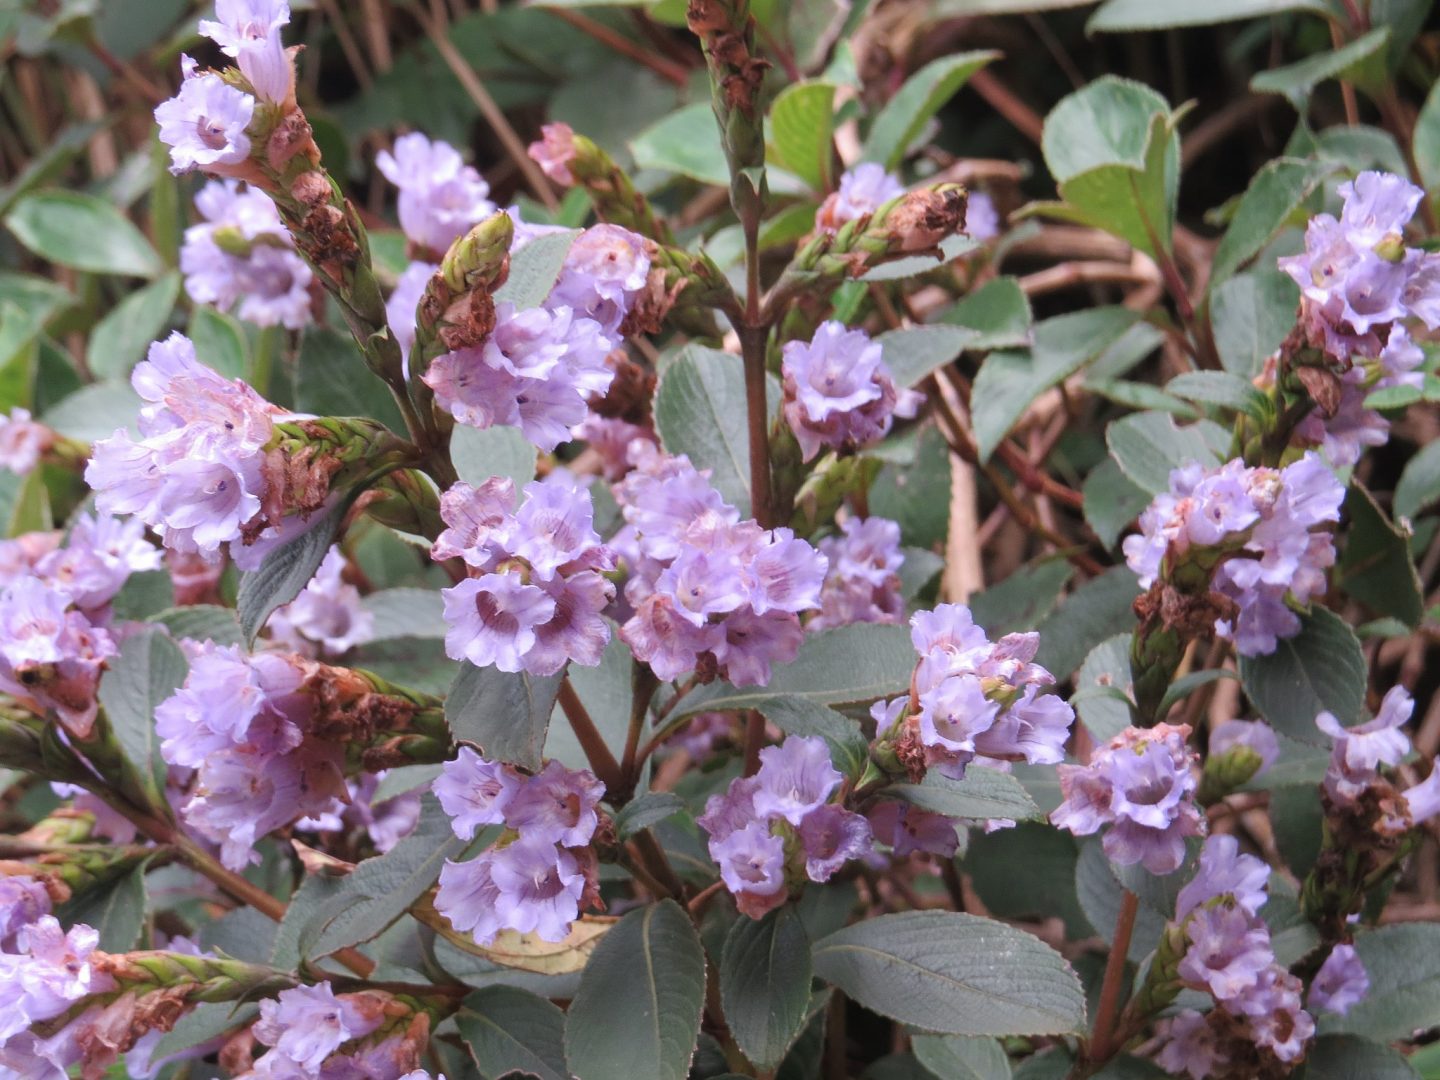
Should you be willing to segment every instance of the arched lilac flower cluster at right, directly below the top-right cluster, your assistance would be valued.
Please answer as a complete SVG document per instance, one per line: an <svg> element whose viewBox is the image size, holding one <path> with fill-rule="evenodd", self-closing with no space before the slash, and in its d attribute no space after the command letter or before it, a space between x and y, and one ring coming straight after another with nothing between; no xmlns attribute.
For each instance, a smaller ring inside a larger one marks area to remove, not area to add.
<svg viewBox="0 0 1440 1080"><path fill-rule="evenodd" d="M1210 588L1237 611L1215 621L1215 634L1234 639L1241 655L1270 654L1300 631L1292 606L1325 593L1335 541L1323 526L1339 521L1344 501L1345 487L1315 454L1283 469L1248 468L1240 458L1211 469L1191 462L1171 472L1169 491L1140 514L1125 559L1142 588L1182 567L1212 569Z"/></svg>

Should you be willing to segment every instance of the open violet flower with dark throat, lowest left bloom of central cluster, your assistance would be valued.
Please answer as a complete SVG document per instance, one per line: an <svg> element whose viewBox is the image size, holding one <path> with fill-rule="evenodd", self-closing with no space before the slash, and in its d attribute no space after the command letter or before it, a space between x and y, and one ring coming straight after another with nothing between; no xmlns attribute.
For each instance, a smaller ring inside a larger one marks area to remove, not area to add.
<svg viewBox="0 0 1440 1080"><path fill-rule="evenodd" d="M554 600L518 573L487 573L444 589L445 652L475 667L524 668L536 628L554 615Z"/></svg>

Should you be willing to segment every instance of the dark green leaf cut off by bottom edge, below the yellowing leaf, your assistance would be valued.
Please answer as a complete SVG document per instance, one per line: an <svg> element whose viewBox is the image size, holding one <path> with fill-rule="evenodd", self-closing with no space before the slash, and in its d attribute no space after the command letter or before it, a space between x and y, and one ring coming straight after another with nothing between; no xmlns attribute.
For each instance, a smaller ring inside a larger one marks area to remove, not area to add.
<svg viewBox="0 0 1440 1080"><path fill-rule="evenodd" d="M475 991L455 1015L480 1074L526 1074L569 1080L564 1064L564 1014L544 998L516 986Z"/></svg>

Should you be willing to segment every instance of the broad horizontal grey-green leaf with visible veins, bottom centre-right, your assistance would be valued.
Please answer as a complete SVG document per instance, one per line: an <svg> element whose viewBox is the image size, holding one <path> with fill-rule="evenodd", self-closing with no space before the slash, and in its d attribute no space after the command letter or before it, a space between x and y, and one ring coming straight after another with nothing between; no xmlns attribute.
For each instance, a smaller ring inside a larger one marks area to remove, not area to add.
<svg viewBox="0 0 1440 1080"><path fill-rule="evenodd" d="M1084 1024L1070 965L1034 935L953 912L901 912L815 943L815 973L883 1017L946 1035L1058 1035Z"/></svg>

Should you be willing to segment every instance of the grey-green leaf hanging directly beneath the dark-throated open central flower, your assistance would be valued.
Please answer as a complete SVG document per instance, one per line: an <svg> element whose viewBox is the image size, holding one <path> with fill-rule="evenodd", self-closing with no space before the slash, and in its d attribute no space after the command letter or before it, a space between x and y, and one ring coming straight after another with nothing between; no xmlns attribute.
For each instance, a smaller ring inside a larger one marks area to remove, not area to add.
<svg viewBox="0 0 1440 1080"><path fill-rule="evenodd" d="M445 697L445 720L456 739L482 747L491 760L539 769L562 678L462 662Z"/></svg>

